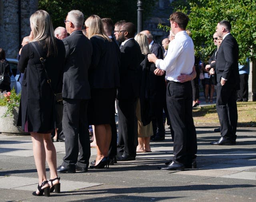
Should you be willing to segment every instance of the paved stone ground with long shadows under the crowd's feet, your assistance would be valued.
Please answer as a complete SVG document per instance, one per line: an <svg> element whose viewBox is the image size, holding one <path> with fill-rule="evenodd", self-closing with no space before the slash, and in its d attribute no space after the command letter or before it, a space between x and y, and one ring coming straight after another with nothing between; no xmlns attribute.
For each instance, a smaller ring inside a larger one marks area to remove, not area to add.
<svg viewBox="0 0 256 202"><path fill-rule="evenodd" d="M238 128L237 144L232 146L210 145L220 137L213 129L196 126L198 169L157 169L173 156L166 126L166 140L150 143L152 152L138 153L136 161L60 174L61 193L50 198L32 196L38 178L30 136L0 134L0 201L256 201L256 128ZM60 165L65 146L54 145ZM93 161L96 149L91 151Z"/></svg>

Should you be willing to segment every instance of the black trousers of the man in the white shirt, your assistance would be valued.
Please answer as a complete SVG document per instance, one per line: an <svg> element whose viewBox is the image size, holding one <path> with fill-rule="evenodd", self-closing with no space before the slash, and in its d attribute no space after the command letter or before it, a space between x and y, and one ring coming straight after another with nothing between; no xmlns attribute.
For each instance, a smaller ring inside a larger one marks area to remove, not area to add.
<svg viewBox="0 0 256 202"><path fill-rule="evenodd" d="M196 158L197 153L191 82L168 82L166 103L174 131L173 161L186 165Z"/></svg>

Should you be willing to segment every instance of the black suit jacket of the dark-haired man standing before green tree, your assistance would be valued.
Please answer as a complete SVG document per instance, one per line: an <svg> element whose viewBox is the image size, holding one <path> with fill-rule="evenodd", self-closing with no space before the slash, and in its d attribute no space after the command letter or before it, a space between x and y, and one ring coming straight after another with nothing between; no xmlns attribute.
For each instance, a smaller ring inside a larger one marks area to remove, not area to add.
<svg viewBox="0 0 256 202"><path fill-rule="evenodd" d="M225 85L239 89L240 78L238 71L238 43L231 35L227 35L222 41L216 59L217 82L221 77L227 79Z"/></svg>

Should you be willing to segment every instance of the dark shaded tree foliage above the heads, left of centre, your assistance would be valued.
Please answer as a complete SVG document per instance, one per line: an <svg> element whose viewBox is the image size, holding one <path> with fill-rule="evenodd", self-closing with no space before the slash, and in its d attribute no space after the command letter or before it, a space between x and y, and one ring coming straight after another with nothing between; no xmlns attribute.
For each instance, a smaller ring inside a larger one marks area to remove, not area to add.
<svg viewBox="0 0 256 202"><path fill-rule="evenodd" d="M101 18L111 18L113 22L126 20L137 24L137 0L39 0L39 9L46 10L54 27L64 26L63 20L70 10L80 10L87 18L96 14ZM143 0L143 20L149 17L156 0Z"/></svg>

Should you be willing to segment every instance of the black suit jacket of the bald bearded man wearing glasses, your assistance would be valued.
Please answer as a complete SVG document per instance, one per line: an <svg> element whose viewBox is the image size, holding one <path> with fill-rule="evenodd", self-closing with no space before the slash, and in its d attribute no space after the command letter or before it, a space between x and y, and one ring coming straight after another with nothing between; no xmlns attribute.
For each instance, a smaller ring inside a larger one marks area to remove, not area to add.
<svg viewBox="0 0 256 202"><path fill-rule="evenodd" d="M117 99L139 97L139 66L142 61L140 46L134 39L121 48L120 87Z"/></svg>

